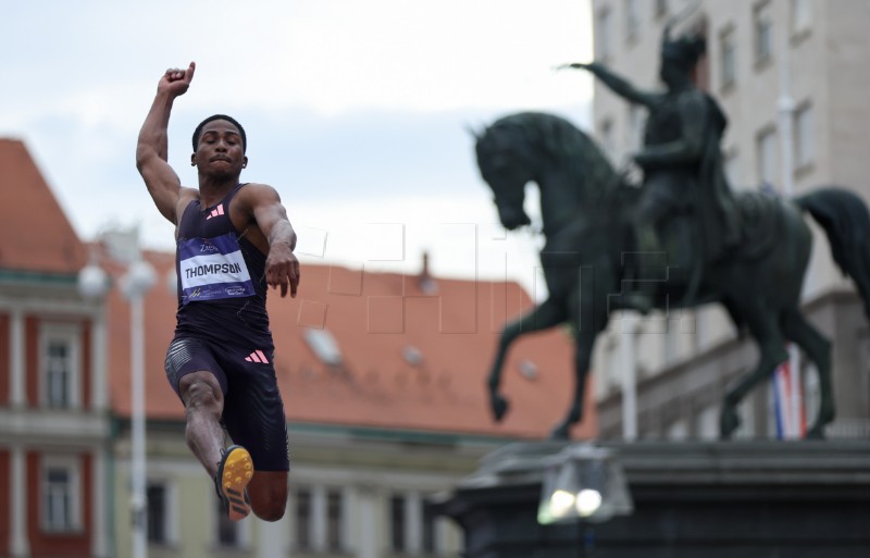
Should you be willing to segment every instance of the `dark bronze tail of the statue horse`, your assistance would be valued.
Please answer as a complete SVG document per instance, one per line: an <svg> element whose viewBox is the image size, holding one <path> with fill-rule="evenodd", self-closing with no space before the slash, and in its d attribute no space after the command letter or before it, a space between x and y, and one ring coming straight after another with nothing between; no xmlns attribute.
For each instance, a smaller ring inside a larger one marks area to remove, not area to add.
<svg viewBox="0 0 870 558"><path fill-rule="evenodd" d="M843 188L822 188L794 199L812 215L828 234L831 256L852 277L870 320L870 211L855 193Z"/></svg>

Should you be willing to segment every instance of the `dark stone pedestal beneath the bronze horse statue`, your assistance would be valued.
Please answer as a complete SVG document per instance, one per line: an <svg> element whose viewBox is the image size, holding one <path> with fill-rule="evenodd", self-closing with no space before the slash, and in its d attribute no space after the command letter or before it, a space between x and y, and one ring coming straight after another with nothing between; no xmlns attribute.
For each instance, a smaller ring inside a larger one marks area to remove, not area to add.
<svg viewBox="0 0 870 558"><path fill-rule="evenodd" d="M539 525L544 461L518 443L434 501L468 558L867 558L870 441L600 444L622 462L631 516Z"/></svg>

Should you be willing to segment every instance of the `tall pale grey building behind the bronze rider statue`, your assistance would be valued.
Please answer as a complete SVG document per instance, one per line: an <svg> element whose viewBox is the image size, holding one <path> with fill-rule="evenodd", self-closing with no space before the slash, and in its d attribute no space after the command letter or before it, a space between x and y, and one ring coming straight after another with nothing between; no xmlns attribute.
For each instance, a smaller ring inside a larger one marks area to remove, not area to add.
<svg viewBox="0 0 870 558"><path fill-rule="evenodd" d="M662 29L699 33L707 54L696 83L729 117L722 142L735 190L772 189L781 196L841 185L870 200L863 179L870 145L863 131L870 110L870 4L834 0L593 0L595 59L641 88L658 78ZM645 112L594 87L594 134L613 163L630 168L641 146ZM809 222L809 218L808 218ZM834 343L836 422L830 436L870 435L868 330L855 290L836 269L828 240L815 223L805 277L808 317ZM614 320L596 352L601 435L620 437L622 374L637 377L637 435L718 436L724 386L755 365L755 349L737 339L718 307ZM804 404L811 421L818 395L812 370L803 364ZM773 397L760 389L744 404L739 435L774 435Z"/></svg>

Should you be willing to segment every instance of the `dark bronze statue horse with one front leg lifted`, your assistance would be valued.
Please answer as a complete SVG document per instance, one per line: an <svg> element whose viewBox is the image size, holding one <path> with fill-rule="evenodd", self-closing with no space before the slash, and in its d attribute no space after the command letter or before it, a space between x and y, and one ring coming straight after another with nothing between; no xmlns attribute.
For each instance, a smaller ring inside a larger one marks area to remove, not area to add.
<svg viewBox="0 0 870 558"><path fill-rule="evenodd" d="M496 121L476 136L477 165L489 185L501 224L514 230L530 224L523 210L526 184L540 194L546 244L540 262L549 296L501 332L488 376L492 411L500 420L508 410L499 393L501 368L511 343L522 334L569 324L574 336L573 402L552 436L568 438L583 417L583 393L595 339L610 312L625 309L620 294L630 281L631 210L639 189L613 170L595 142L568 121L524 112ZM668 258L657 281L656 308L709 302L724 306L739 330L746 327L759 348L756 367L729 386L720 413L720 435L739 425L737 404L787 359L794 342L818 370L821 405L808 437L823 437L834 419L831 344L800 312L799 300L812 236L803 212L826 231L834 260L852 276L870 317L870 213L855 194L822 188L792 200L762 193L737 194L742 243L720 259L705 263L699 283L692 273L692 214L674 218L662 230ZM688 255L688 257L686 256ZM639 268L638 268L639 269ZM684 300L692 292L691 300ZM676 302L675 302L676 301Z"/></svg>

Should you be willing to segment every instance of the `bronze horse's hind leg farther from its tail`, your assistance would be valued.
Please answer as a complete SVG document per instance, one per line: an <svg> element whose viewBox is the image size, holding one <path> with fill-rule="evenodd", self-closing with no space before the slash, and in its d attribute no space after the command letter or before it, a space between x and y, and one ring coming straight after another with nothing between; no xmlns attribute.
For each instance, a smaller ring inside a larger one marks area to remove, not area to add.
<svg viewBox="0 0 870 558"><path fill-rule="evenodd" d="M737 414L737 405L753 388L770 377L775 368L788 358L785 350L785 338L780 331L779 317L763 307L753 305L750 308L741 308L741 313L746 317L749 333L755 337L760 356L758 364L748 374L739 377L733 386L728 388L722 401L722 411L719 416L719 434L722 439L728 439L741 424Z"/></svg>

